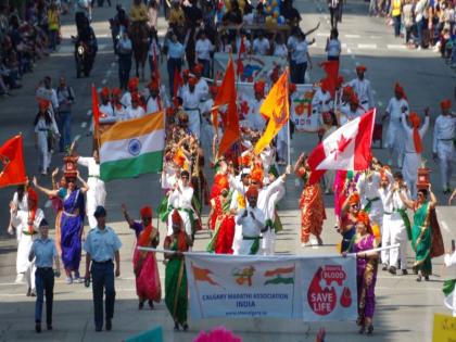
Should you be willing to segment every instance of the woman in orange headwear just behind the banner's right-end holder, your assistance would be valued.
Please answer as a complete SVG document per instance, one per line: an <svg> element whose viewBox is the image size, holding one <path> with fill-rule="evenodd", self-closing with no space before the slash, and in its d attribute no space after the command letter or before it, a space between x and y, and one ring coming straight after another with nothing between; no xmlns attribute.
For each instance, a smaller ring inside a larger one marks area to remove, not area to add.
<svg viewBox="0 0 456 342"><path fill-rule="evenodd" d="M352 193L343 203L338 232L342 236L341 252L346 252L356 233L356 223L360 208L359 194Z"/></svg>

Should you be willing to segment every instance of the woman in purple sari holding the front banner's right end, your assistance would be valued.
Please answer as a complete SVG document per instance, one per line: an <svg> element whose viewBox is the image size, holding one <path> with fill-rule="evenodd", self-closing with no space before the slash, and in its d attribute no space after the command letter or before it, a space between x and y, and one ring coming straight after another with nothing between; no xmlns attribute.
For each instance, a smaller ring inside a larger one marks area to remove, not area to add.
<svg viewBox="0 0 456 342"><path fill-rule="evenodd" d="M370 228L369 215L359 212L356 221L356 235L353 237L349 251L356 253L356 286L358 290L359 333L373 332L373 311L376 308L376 282L379 253L370 251L377 248L376 237ZM346 252L343 252L346 255Z"/></svg>

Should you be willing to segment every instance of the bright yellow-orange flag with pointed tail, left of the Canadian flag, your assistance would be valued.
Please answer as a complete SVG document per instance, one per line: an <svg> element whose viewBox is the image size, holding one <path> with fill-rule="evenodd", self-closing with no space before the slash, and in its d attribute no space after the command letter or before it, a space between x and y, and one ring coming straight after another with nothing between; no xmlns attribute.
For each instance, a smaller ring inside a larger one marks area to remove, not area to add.
<svg viewBox="0 0 456 342"><path fill-rule="evenodd" d="M269 118L266 130L255 144L254 153L259 154L290 118L290 103L288 100L288 69L280 76L269 90L259 113Z"/></svg>

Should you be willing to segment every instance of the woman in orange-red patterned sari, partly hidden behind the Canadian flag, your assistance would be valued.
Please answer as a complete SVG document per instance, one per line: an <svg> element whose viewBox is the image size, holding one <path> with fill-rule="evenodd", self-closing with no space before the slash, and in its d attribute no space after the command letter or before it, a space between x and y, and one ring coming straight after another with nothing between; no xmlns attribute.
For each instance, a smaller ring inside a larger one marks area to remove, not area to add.
<svg viewBox="0 0 456 342"><path fill-rule="evenodd" d="M318 182L308 185L311 172L307 166L305 153L302 153L294 165L294 174L304 181L304 189L301 194L301 243L308 245L311 233L317 238L318 244L322 244L321 230L326 219L325 203L322 201L321 188Z"/></svg>

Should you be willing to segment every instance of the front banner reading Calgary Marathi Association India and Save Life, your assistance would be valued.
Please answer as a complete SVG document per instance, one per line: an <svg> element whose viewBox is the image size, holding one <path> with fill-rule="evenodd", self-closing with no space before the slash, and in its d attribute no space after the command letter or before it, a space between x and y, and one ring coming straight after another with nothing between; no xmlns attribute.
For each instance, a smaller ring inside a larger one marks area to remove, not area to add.
<svg viewBox="0 0 456 342"><path fill-rule="evenodd" d="M192 319L354 320L354 257L186 255Z"/></svg>

